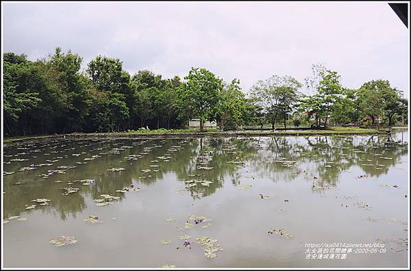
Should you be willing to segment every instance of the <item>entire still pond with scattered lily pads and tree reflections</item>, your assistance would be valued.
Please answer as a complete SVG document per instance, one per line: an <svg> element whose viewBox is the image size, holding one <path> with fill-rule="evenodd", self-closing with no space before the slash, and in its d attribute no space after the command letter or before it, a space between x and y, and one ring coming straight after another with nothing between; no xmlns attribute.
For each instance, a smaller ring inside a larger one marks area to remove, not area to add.
<svg viewBox="0 0 411 271"><path fill-rule="evenodd" d="M45 140L3 161L5 267L407 266L408 132Z"/></svg>

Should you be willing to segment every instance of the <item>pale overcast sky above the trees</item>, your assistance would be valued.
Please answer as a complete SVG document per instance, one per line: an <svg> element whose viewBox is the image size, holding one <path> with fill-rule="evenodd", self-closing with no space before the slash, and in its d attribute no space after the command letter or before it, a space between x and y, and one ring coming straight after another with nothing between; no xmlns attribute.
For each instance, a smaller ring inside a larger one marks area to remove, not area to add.
<svg viewBox="0 0 411 271"><path fill-rule="evenodd" d="M271 75L301 82L313 63L343 86L388 79L408 97L408 29L386 2L3 3L3 51L30 60L57 46L184 77L192 66L248 89Z"/></svg>

